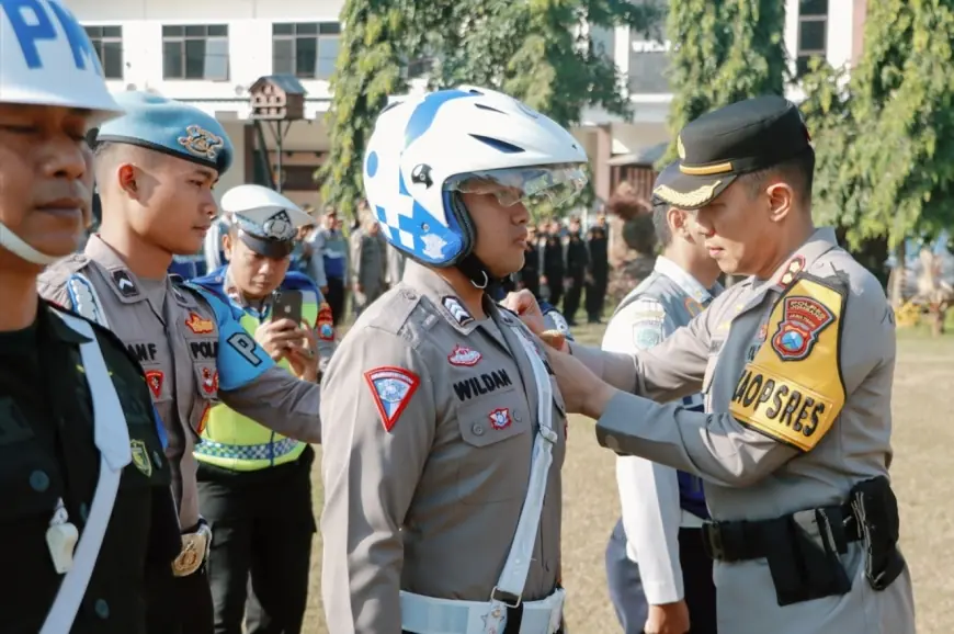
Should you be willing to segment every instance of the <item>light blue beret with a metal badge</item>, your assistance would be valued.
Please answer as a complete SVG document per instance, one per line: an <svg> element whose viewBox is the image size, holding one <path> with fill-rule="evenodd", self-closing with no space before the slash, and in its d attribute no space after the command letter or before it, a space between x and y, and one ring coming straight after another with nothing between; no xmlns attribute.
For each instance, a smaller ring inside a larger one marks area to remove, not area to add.
<svg viewBox="0 0 954 634"><path fill-rule="evenodd" d="M125 143L209 167L223 174L235 150L222 124L188 103L148 92L116 95L126 111L100 127L96 143Z"/></svg>

